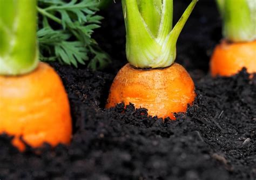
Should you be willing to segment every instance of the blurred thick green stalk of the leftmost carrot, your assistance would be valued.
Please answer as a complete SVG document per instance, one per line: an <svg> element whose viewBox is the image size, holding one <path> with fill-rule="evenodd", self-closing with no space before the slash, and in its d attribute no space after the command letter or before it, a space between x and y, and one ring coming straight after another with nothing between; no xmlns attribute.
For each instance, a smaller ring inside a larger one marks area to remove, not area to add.
<svg viewBox="0 0 256 180"><path fill-rule="evenodd" d="M37 67L36 12L36 0L0 0L0 75Z"/></svg>

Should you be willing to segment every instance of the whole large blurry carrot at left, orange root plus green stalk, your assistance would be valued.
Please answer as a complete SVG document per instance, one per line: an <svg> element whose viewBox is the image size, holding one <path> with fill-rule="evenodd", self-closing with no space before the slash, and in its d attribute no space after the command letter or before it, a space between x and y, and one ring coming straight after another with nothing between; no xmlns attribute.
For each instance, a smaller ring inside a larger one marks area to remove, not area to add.
<svg viewBox="0 0 256 180"><path fill-rule="evenodd" d="M0 0L0 133L24 150L44 142L68 144L68 96L57 73L39 63L36 0Z"/></svg>

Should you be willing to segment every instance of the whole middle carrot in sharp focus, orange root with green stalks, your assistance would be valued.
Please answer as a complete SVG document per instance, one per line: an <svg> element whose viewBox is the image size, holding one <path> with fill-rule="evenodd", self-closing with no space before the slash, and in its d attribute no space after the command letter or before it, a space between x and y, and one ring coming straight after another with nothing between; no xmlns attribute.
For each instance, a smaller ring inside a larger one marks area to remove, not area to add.
<svg viewBox="0 0 256 180"><path fill-rule="evenodd" d="M197 0L172 27L172 0L123 0L127 63L114 78L106 108L118 103L145 107L151 116L175 119L196 94L176 59L176 42Z"/></svg>

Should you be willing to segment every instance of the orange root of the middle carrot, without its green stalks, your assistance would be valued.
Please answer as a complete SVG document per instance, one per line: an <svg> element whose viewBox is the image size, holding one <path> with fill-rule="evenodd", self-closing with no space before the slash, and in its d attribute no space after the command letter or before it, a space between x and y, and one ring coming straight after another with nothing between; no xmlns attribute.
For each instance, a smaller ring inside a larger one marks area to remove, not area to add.
<svg viewBox="0 0 256 180"><path fill-rule="evenodd" d="M164 69L134 69L127 63L112 83L106 108L118 103L145 107L151 116L176 119L174 112L185 112L196 93L187 71L178 63Z"/></svg>

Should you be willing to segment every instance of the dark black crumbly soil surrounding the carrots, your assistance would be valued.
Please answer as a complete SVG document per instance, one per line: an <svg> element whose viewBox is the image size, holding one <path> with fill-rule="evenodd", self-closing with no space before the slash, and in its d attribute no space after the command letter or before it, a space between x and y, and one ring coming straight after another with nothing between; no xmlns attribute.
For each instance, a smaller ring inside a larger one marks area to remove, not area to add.
<svg viewBox="0 0 256 180"><path fill-rule="evenodd" d="M178 15L190 1L174 1ZM95 39L112 57L104 71L51 63L68 92L70 146L27 148L0 136L0 179L256 179L256 76L210 77L208 60L221 38L213 1L200 1L177 45L177 62L194 79L197 98L176 121L148 117L123 104L104 109L111 82L125 63L120 2L103 13ZM174 12L175 13L175 12Z"/></svg>

